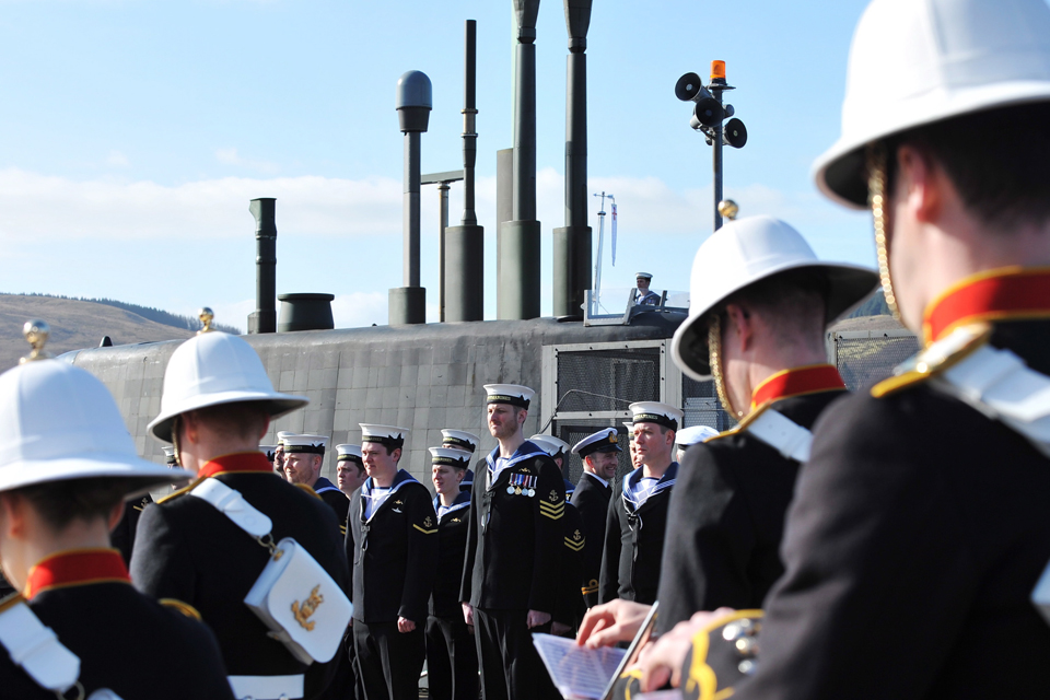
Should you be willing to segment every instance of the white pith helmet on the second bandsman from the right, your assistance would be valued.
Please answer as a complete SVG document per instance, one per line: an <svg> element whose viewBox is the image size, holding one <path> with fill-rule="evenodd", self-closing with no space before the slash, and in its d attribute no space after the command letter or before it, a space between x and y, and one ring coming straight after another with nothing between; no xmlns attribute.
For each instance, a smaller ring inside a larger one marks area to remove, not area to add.
<svg viewBox="0 0 1050 700"><path fill-rule="evenodd" d="M858 265L822 262L797 231L772 217L727 221L703 242L692 261L689 317L675 331L670 354L695 380L710 375L708 312L734 292L789 270L812 270L827 280L826 322L860 304L878 285L878 275Z"/></svg>

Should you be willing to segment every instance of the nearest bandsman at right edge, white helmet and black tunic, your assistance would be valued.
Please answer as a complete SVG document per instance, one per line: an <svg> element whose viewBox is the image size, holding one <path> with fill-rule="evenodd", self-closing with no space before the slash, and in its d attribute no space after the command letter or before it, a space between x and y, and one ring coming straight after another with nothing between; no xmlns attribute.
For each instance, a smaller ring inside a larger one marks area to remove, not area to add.
<svg viewBox="0 0 1050 700"><path fill-rule="evenodd" d="M734 700L1050 689L1032 604L1050 560L1047 163L1043 0L868 5L816 179L872 208L887 304L926 348L818 423Z"/></svg>

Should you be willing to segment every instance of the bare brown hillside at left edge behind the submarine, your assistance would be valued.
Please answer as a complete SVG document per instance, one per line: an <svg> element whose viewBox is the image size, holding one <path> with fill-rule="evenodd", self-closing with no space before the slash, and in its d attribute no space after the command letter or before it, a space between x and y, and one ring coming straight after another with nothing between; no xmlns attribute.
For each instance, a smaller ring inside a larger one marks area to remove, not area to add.
<svg viewBox="0 0 1050 700"><path fill-rule="evenodd" d="M95 302L0 294L0 371L19 363L30 346L22 336L22 325L31 318L43 318L51 326L47 350L61 354L81 348L97 348L103 336L113 345L155 342L189 338L192 330L165 326L138 314Z"/></svg>

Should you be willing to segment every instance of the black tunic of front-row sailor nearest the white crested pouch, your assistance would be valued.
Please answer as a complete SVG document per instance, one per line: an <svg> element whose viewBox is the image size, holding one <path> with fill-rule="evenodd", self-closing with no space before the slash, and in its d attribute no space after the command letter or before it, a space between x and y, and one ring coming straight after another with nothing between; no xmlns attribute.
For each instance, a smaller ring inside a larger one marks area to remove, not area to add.
<svg viewBox="0 0 1050 700"><path fill-rule="evenodd" d="M353 561L353 618L397 622L404 617L420 631L438 564L438 514L430 491L399 469L385 501L365 517L371 477L353 492L347 528L347 557Z"/></svg>

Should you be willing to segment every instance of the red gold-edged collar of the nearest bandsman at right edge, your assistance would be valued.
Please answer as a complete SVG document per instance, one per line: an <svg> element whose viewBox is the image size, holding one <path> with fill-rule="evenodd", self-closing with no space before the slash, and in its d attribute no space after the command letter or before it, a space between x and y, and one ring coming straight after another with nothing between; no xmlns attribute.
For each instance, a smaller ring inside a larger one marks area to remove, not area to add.
<svg viewBox="0 0 1050 700"><path fill-rule="evenodd" d="M968 277L948 288L922 318L926 343L964 326L1007 318L1050 317L1050 268L1007 267Z"/></svg>

